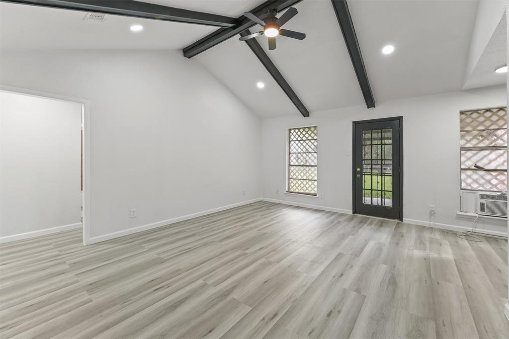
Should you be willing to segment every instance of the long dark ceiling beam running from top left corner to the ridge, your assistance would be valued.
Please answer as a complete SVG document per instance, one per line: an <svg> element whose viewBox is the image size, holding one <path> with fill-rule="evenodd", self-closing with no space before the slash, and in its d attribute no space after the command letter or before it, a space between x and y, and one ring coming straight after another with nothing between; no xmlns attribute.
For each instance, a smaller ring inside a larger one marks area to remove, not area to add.
<svg viewBox="0 0 509 339"><path fill-rule="evenodd" d="M130 16L135 18L235 27L236 18L132 0L0 0L5 3L34 5L84 12Z"/></svg>

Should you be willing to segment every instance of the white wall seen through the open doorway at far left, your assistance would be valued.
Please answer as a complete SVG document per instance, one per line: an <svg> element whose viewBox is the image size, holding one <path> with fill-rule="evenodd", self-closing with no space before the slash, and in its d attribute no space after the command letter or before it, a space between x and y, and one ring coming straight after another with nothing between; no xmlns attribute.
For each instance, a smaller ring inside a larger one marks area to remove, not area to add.
<svg viewBox="0 0 509 339"><path fill-rule="evenodd" d="M81 105L0 92L0 239L80 226Z"/></svg>

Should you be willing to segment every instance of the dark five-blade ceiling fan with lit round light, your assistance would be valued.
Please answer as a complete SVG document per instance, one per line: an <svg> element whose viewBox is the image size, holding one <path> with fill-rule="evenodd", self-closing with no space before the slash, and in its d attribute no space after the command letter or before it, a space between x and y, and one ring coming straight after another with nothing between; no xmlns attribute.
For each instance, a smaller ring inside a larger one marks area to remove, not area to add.
<svg viewBox="0 0 509 339"><path fill-rule="evenodd" d="M297 10L293 7L290 7L285 14L281 15L279 18L276 17L277 12L275 10L269 10L268 16L265 20L260 19L256 15L245 12L244 16L246 18L251 19L252 21L263 26L262 32L257 32L253 34L246 35L245 37L239 38L240 41L244 41L247 39L258 37L262 34L265 34L269 38L269 50L276 49L276 36L282 35L284 37L293 38L303 40L306 35L304 33L290 31L290 30L282 30L280 27L288 22L291 18L297 15Z"/></svg>

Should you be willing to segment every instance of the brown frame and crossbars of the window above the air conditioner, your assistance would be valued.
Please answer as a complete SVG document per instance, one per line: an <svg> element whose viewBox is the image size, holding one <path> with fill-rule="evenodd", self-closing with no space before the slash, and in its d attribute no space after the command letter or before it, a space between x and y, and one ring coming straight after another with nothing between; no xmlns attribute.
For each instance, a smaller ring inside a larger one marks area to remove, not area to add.
<svg viewBox="0 0 509 339"><path fill-rule="evenodd" d="M480 112L480 111L486 111L486 110L498 110L498 109L503 109L505 110L505 117L506 117L506 127L505 128L496 128L497 130L503 130L505 129L506 130L506 133L509 132L509 123L507 122L507 106L495 106L495 107L484 107L484 108L477 108L477 109L463 109L463 110L460 110L460 115L459 115L459 123L460 123L460 126L459 126L459 133L460 133L460 147L459 147L459 153L460 153L460 191L475 191L475 192L506 192L506 191L502 191L502 190L487 190L487 189L473 189L473 188L464 188L463 187L463 178L462 178L462 174L463 174L463 171L478 171L480 173L482 172L505 172L505 176L506 176L506 189L507 189L507 185L508 185L508 179L507 178L507 167L505 169L493 169L493 168L487 168L487 171L483 171L483 170L478 170L477 168L464 168L462 166L462 152L463 151L467 151L469 147L464 147L461 145L461 142L462 142L462 132L469 132L469 131L482 131L482 130L486 130L486 131L489 131L490 129L489 128L486 128L486 129L472 129L472 130L462 130L461 129L461 115L462 114L465 114L467 112ZM493 130L493 129L491 129ZM506 138L507 138L507 135L506 134ZM497 150L504 150L505 151L505 155L506 155L506 162L507 162L507 157L509 156L509 152L507 150L507 145L509 143L506 143L505 146L502 146L502 147L498 147L498 148L494 148L493 146L480 146L480 147L471 147L472 148L472 151L475 151L475 150L486 150L486 151L497 151Z"/></svg>

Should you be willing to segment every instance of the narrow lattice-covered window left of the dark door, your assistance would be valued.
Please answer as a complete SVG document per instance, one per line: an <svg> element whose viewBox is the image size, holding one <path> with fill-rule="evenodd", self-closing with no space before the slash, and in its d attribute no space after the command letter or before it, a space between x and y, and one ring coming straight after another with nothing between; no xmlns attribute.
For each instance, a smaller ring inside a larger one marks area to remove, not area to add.
<svg viewBox="0 0 509 339"><path fill-rule="evenodd" d="M317 195L318 127L289 130L288 192Z"/></svg>

